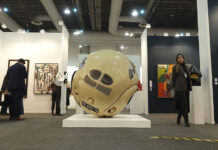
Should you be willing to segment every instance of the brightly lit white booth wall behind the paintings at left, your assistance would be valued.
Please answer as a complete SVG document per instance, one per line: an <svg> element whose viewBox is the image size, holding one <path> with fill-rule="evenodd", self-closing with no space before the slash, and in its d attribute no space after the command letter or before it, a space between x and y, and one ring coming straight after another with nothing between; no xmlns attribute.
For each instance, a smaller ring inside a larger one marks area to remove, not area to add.
<svg viewBox="0 0 218 150"><path fill-rule="evenodd" d="M23 99L25 113L51 112L51 95L34 94L35 64L58 63L59 71L66 70L67 58L65 61L63 58L68 55L68 47L64 47L64 40L67 39L64 39L63 33L22 34L0 31L0 85L7 72L9 59L29 60L28 93L27 98Z"/></svg>

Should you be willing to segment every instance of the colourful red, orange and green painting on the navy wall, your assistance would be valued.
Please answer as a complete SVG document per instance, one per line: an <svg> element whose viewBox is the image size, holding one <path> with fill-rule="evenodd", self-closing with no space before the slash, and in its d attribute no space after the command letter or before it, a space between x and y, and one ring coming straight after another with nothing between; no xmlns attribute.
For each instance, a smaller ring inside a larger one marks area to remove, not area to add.
<svg viewBox="0 0 218 150"><path fill-rule="evenodd" d="M158 64L158 98L174 98L174 91L167 89L174 64Z"/></svg>

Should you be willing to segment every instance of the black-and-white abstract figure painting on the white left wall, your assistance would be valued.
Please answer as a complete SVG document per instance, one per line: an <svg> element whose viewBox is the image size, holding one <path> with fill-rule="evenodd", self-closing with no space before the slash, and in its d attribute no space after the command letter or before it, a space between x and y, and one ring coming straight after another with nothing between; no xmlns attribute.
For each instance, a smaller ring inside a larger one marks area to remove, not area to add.
<svg viewBox="0 0 218 150"><path fill-rule="evenodd" d="M51 83L58 73L57 63L36 63L34 77L35 94L51 94Z"/></svg>

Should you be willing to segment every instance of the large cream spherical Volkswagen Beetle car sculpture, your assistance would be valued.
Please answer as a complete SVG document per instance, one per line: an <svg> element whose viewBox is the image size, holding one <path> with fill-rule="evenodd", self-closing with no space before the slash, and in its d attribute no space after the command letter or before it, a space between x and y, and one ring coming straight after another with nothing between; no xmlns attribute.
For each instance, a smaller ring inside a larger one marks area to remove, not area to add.
<svg viewBox="0 0 218 150"><path fill-rule="evenodd" d="M137 91L135 65L120 52L100 50L80 63L72 82L76 102L99 117L119 113Z"/></svg>

